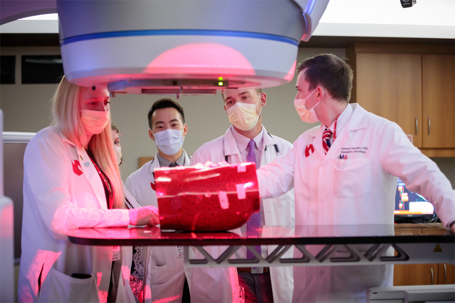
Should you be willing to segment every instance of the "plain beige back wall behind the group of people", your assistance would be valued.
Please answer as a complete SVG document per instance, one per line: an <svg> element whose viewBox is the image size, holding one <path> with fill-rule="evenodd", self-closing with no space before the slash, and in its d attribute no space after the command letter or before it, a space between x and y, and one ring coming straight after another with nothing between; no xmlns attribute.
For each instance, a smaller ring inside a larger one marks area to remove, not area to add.
<svg viewBox="0 0 455 303"><path fill-rule="evenodd" d="M300 48L297 62L322 53L344 57L344 48ZM59 47L3 47L2 55L17 55L16 83L20 83L20 55L56 55ZM15 84L0 86L0 108L4 112L4 130L37 132L51 123L51 99L57 85ZM295 78L288 84L266 88L267 104L262 110L262 123L269 133L290 142L312 125L298 117L293 100L296 94ZM120 170L125 180L138 169L139 157L156 153L154 142L148 136L147 113L153 102L175 95L117 95L111 99L112 120L120 129L123 161ZM228 129L230 123L223 110L220 93L216 95L181 95L178 102L185 110L188 134L184 148L192 155L204 142L215 139ZM453 184L454 159L433 159Z"/></svg>

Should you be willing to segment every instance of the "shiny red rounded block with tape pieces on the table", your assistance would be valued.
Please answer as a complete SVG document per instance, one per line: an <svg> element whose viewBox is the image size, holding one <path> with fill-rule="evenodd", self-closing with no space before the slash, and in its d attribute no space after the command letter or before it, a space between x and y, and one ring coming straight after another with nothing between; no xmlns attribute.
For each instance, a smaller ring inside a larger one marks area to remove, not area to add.
<svg viewBox="0 0 455 303"><path fill-rule="evenodd" d="M253 163L163 167L155 178L162 229L229 230L259 212Z"/></svg>

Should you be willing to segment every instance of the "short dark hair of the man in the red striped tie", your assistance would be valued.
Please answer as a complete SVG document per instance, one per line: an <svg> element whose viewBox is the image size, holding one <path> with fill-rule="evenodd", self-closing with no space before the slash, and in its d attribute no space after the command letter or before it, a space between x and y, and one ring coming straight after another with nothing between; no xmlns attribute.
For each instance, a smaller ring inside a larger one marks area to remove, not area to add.
<svg viewBox="0 0 455 303"><path fill-rule="evenodd" d="M322 54L300 62L297 74L304 69L307 69L305 80L310 84L310 90L322 85L334 99L349 102L354 76L346 62L333 54Z"/></svg>

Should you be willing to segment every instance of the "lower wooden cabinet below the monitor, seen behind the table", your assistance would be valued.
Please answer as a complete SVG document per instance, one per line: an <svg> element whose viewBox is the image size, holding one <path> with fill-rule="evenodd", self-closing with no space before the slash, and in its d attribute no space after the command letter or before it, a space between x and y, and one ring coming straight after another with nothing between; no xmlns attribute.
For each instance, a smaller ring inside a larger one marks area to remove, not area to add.
<svg viewBox="0 0 455 303"><path fill-rule="evenodd" d="M395 235L444 234L440 224L395 224ZM455 284L452 264L395 264L393 285Z"/></svg>

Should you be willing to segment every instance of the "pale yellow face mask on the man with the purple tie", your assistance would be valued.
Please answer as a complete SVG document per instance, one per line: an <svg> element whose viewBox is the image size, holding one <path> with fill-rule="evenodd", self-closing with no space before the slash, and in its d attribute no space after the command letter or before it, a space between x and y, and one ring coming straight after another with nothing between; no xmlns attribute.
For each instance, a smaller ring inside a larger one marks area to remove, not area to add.
<svg viewBox="0 0 455 303"><path fill-rule="evenodd" d="M256 104L236 102L236 104L227 110L229 122L231 122L238 129L244 131L253 129L259 120L259 115L262 113L261 107L259 115L256 114L256 106L260 99L261 94L259 94Z"/></svg>

